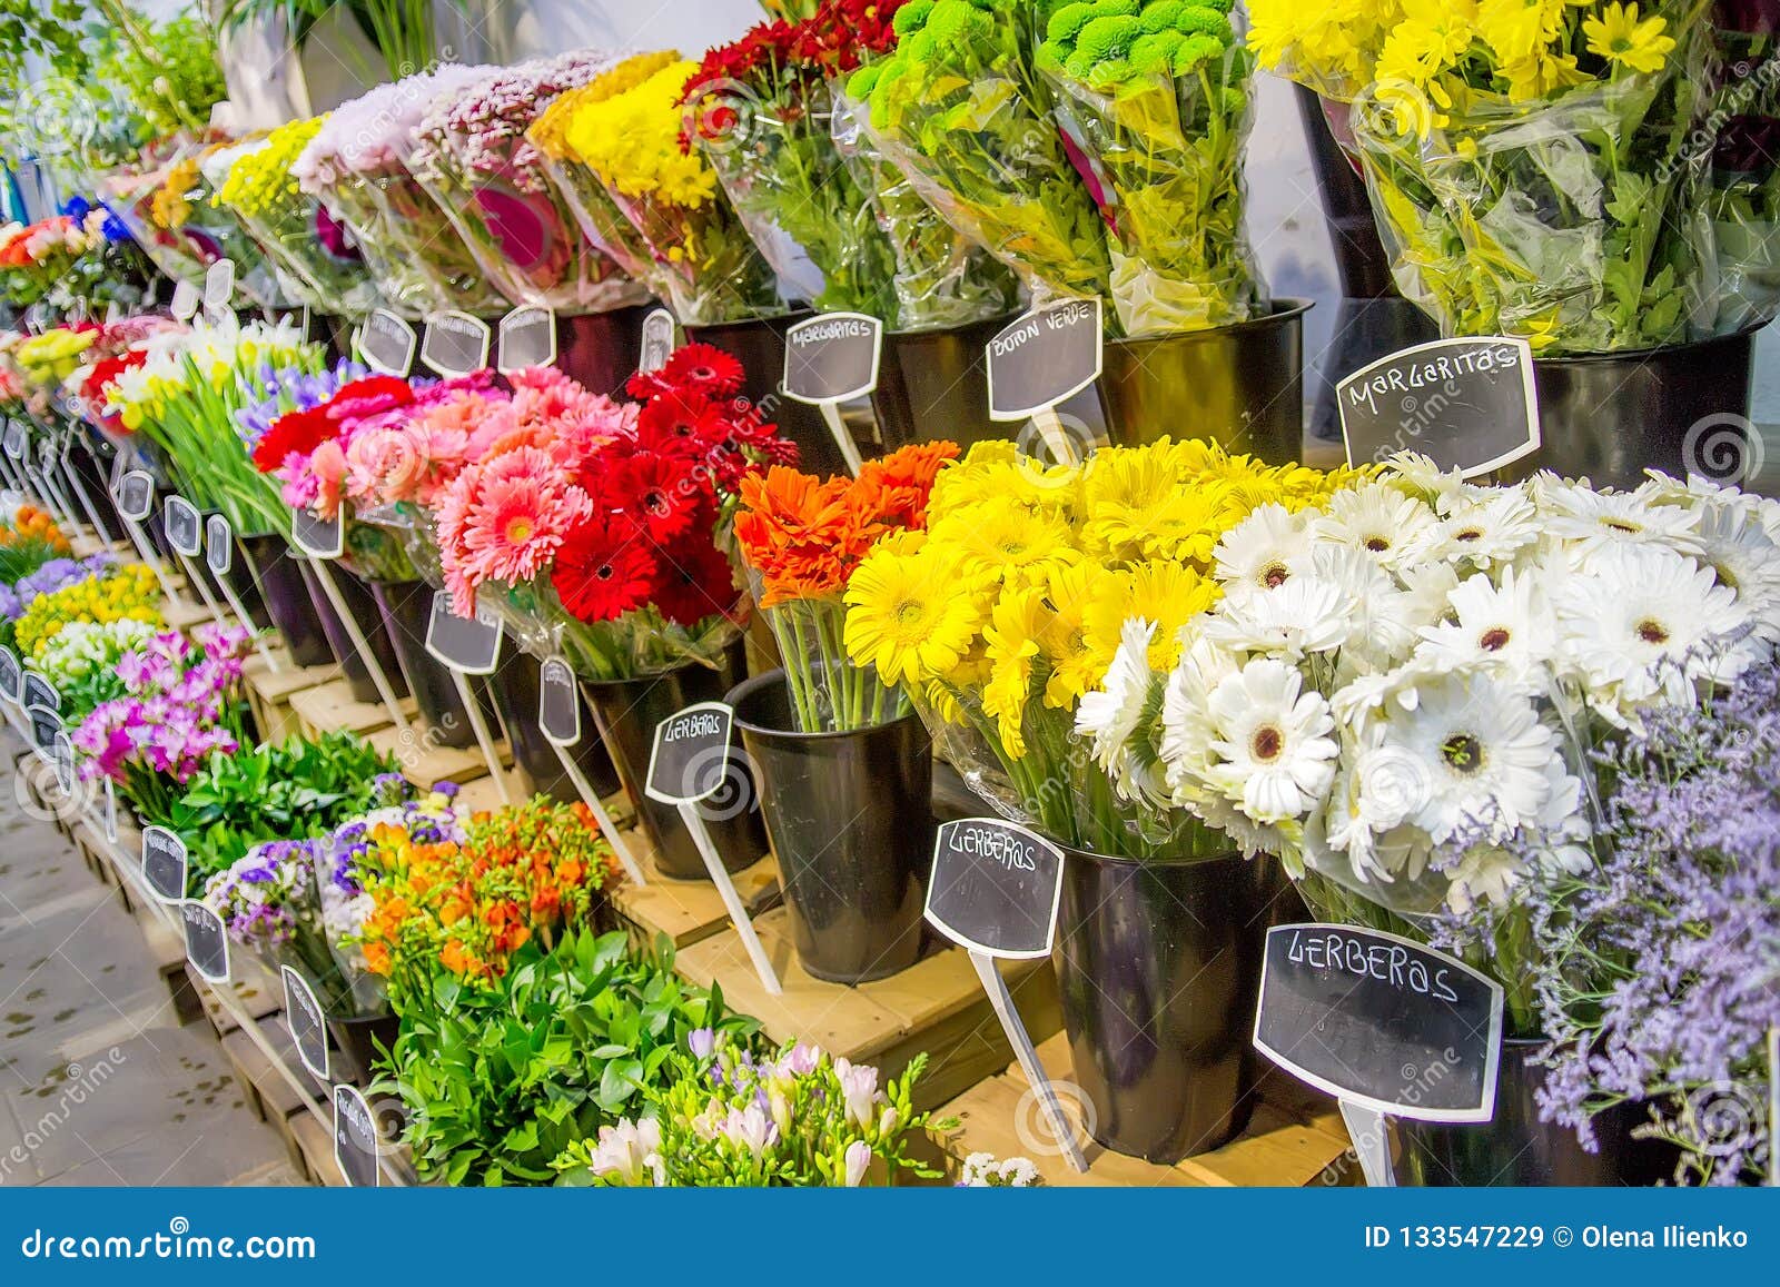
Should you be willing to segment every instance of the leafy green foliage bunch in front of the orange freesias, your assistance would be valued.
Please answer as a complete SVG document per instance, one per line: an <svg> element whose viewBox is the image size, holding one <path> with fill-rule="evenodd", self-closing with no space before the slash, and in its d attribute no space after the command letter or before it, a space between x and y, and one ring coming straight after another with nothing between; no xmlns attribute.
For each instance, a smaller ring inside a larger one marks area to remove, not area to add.
<svg viewBox="0 0 1780 1287"><path fill-rule="evenodd" d="M666 938L635 956L623 933L580 929L550 954L527 943L493 993L440 977L404 1006L374 1089L400 1095L424 1180L548 1184L552 1159L641 1111L696 1029L746 1041L755 1024L675 975Z"/></svg>

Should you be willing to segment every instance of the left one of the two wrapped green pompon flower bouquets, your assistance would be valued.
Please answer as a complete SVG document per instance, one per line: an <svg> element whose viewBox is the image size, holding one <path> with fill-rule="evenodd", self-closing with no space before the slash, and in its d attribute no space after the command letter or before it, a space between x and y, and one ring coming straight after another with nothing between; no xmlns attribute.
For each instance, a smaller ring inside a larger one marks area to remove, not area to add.
<svg viewBox="0 0 1780 1287"><path fill-rule="evenodd" d="M847 98L867 105L876 148L947 223L1034 288L1105 295L1105 223L1050 119L1034 21L1020 0L908 4L895 50L853 73Z"/></svg>

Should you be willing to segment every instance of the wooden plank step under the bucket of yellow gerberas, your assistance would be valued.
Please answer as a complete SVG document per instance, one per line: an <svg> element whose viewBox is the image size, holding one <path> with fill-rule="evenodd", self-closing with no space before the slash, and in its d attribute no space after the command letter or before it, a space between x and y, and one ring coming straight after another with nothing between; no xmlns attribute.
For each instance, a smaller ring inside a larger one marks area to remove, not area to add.
<svg viewBox="0 0 1780 1287"><path fill-rule="evenodd" d="M1070 1081L1070 1045L1061 1032L1040 1043L1038 1057L1056 1084ZM958 1125L933 1134L954 1173L967 1155L984 1152L999 1159L1027 1157L1045 1182L1056 1186L1301 1187L1353 1182L1358 1168L1346 1164L1351 1145L1333 1100L1278 1072L1264 1077L1257 1093L1260 1102L1237 1139L1173 1166L1125 1157L1089 1141L1082 1150L1088 1173L1077 1175L1050 1143L1018 1064L938 1109L936 1118L956 1118ZM1066 1093L1059 1098L1077 1125L1077 1139L1088 1139L1077 1098Z"/></svg>

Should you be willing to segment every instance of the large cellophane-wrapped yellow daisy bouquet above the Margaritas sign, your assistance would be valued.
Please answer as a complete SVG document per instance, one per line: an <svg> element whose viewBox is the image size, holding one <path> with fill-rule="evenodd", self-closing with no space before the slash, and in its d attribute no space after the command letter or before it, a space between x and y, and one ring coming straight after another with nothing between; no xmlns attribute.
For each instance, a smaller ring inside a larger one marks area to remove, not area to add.
<svg viewBox="0 0 1780 1287"><path fill-rule="evenodd" d="M1445 335L1609 352L1693 338L1716 312L1707 9L1253 0L1248 43L1346 105L1331 121L1397 287Z"/></svg>

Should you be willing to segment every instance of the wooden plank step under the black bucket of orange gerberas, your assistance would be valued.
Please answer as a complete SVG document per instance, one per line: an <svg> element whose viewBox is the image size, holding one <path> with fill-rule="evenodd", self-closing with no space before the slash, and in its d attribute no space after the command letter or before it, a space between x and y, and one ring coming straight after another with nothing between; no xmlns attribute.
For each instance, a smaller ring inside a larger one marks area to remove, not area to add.
<svg viewBox="0 0 1780 1287"><path fill-rule="evenodd" d="M733 929L682 949L675 968L705 988L721 984L724 1004L758 1018L774 1043L813 1041L829 1054L876 1064L885 1077L926 1054L927 1070L915 1086L920 1107L943 1104L1013 1059L963 949L938 947L901 974L847 988L822 983L797 963L787 917L778 908L755 919L783 986L778 997L760 983ZM1020 963L1006 975L1032 1038L1056 1032L1063 1015L1050 965Z"/></svg>

